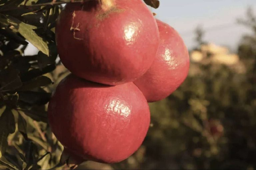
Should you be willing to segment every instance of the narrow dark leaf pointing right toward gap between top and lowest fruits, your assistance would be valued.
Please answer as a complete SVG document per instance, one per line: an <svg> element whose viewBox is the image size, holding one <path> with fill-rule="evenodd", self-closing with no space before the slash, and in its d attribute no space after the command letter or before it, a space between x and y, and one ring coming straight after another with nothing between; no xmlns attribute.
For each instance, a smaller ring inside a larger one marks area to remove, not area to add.
<svg viewBox="0 0 256 170"><path fill-rule="evenodd" d="M18 91L28 91L28 90L32 90L37 87L46 86L51 83L52 83L52 80L50 78L48 78L46 76L39 76L30 81L23 82L23 85L17 90Z"/></svg>

